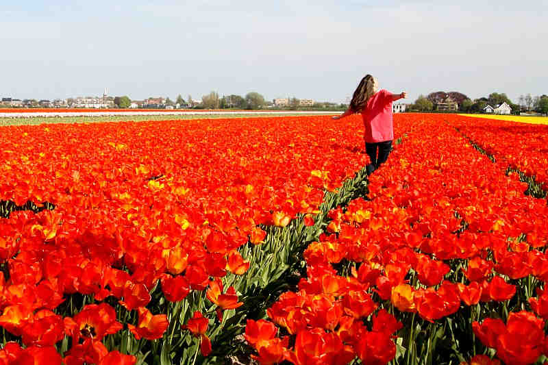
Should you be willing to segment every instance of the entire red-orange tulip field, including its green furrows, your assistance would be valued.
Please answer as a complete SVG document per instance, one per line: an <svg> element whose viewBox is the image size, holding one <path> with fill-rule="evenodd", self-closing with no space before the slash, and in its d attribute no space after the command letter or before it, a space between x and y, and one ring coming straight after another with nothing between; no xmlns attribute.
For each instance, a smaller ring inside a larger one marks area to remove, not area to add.
<svg viewBox="0 0 548 365"><path fill-rule="evenodd" d="M0 127L0 365L543 364L548 125Z"/></svg>

